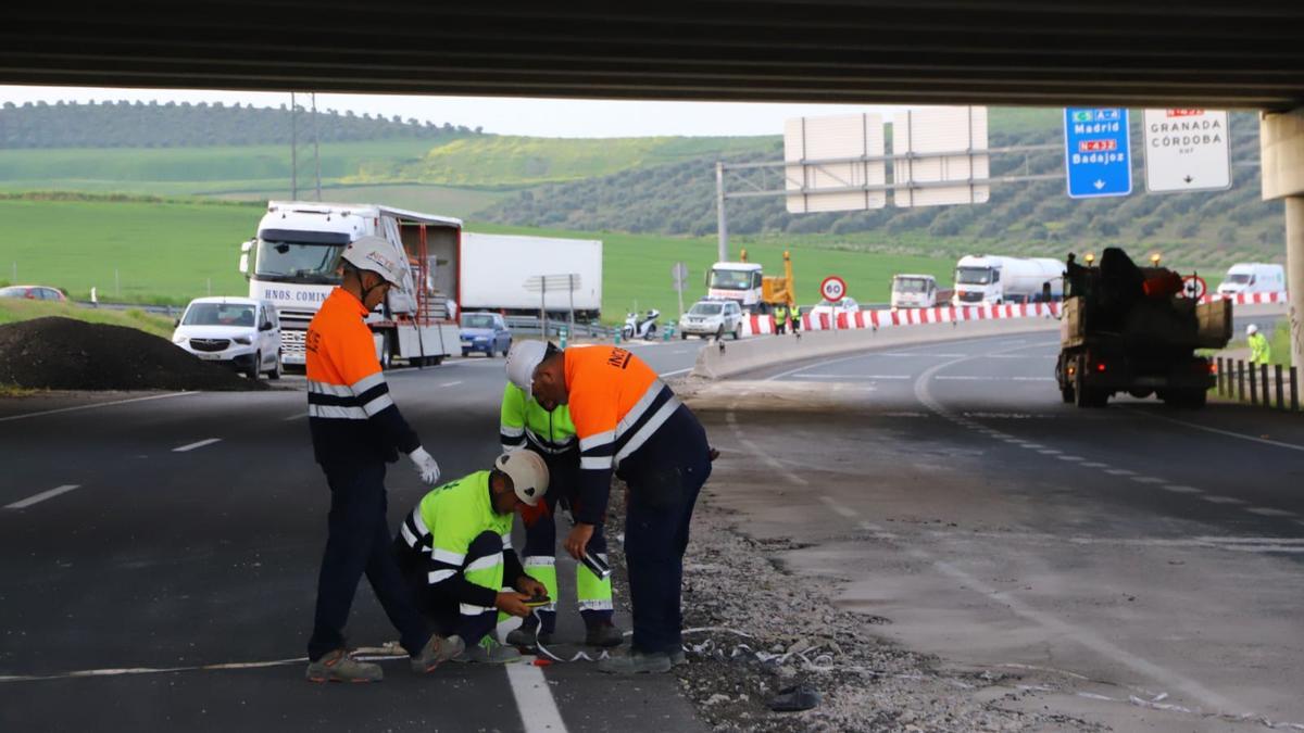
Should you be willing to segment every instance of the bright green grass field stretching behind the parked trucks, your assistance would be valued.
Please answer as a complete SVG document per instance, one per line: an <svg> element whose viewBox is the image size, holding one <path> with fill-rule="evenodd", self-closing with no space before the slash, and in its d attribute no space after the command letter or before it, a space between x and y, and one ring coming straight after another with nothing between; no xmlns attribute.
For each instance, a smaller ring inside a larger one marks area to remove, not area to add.
<svg viewBox="0 0 1304 733"><path fill-rule="evenodd" d="M100 201L0 201L10 233L0 235L0 278L16 283L63 287L77 300L90 288L100 300L170 303L209 295L244 295L248 286L236 270L240 243L254 233L262 211L254 206ZM604 241L602 312L623 320L627 309L657 308L677 313L670 267L689 266L685 303L704 292L705 270L716 261L713 239L677 239L609 232L563 232L468 222L481 232L575 236ZM735 244L742 247L739 240ZM750 260L777 274L785 243L747 245ZM737 250L737 249L735 249ZM884 301L893 273L911 271L949 279L953 260L792 248L798 300L819 300L819 282L841 275L853 297ZM115 286L115 270L117 283Z"/></svg>

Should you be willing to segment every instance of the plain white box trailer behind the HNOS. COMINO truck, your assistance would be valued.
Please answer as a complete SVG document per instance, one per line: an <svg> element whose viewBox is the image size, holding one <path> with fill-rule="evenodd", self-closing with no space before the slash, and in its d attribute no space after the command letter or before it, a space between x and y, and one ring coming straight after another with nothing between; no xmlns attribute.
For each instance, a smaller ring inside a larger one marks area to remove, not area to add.
<svg viewBox="0 0 1304 733"><path fill-rule="evenodd" d="M463 232L458 269L463 312L537 314L545 307L561 314L574 308L578 321L596 321L602 309L599 240ZM574 275L574 292L561 275ZM546 278L546 293L527 287L537 277Z"/></svg>

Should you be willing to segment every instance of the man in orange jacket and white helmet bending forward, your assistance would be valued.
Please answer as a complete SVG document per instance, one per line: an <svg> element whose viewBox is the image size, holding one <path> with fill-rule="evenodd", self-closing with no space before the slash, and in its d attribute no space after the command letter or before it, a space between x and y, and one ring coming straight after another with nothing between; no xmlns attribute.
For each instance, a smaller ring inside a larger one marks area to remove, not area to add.
<svg viewBox="0 0 1304 733"><path fill-rule="evenodd" d="M634 606L630 652L599 663L608 673L668 672L683 660L679 591L692 507L711 475L696 416L656 372L618 347L522 352L509 380L545 410L566 404L579 437L579 496L566 552L580 558L604 522L612 472L629 485L625 557Z"/></svg>

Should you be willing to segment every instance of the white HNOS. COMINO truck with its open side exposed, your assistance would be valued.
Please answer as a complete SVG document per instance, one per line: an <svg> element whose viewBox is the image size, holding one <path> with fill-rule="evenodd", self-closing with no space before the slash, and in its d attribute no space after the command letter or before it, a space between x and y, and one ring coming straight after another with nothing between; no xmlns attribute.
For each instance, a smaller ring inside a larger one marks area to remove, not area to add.
<svg viewBox="0 0 1304 733"><path fill-rule="evenodd" d="M258 233L240 248L249 297L270 300L280 314L282 360L304 365L304 334L339 284L339 256L353 240L376 235L408 261L403 287L390 288L368 316L377 356L439 364L460 350L447 303L458 296L462 220L372 203L269 201Z"/></svg>

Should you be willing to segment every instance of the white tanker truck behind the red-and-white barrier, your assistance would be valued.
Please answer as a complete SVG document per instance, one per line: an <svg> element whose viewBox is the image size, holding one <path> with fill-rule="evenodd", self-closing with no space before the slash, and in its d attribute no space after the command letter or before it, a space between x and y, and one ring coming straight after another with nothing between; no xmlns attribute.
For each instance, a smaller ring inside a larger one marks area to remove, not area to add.
<svg viewBox="0 0 1304 733"><path fill-rule="evenodd" d="M1051 257L965 256L956 263L952 305L1047 303L1064 299L1064 263Z"/></svg>

